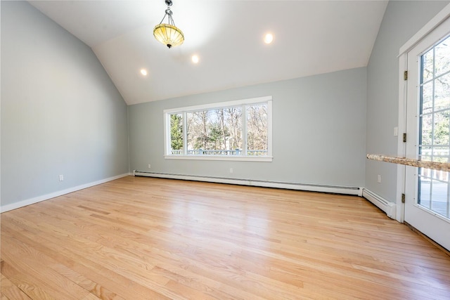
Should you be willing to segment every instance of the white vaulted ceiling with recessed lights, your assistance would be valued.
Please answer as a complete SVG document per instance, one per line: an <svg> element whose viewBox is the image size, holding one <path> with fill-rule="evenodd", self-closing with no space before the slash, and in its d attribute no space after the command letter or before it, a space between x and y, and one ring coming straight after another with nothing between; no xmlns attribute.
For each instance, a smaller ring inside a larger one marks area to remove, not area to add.
<svg viewBox="0 0 450 300"><path fill-rule="evenodd" d="M153 37L164 0L30 1L89 45L127 104L368 63L387 1L173 0L184 44ZM266 32L274 34L264 44ZM198 64L191 56L200 57ZM143 77L141 68L148 70Z"/></svg>

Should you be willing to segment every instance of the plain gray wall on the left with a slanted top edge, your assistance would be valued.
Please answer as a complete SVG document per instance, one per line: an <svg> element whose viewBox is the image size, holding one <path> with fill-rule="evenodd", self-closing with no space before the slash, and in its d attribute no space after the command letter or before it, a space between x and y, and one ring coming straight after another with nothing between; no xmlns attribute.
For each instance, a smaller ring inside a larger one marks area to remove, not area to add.
<svg viewBox="0 0 450 300"><path fill-rule="evenodd" d="M128 173L127 130L91 48L27 2L1 1L1 205Z"/></svg>

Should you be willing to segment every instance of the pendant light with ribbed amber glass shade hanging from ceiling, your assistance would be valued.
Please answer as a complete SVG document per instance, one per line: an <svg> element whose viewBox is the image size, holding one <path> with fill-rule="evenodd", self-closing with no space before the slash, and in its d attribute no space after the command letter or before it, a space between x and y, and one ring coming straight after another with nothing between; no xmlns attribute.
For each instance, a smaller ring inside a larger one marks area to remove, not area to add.
<svg viewBox="0 0 450 300"><path fill-rule="evenodd" d="M170 10L172 0L165 0L165 3L167 4L167 9L164 18L162 18L160 24L153 28L153 35L155 36L155 39L162 44L165 44L167 48L172 48L183 44L184 34L175 26L174 19L172 18L172 11ZM167 23L163 23L166 17Z"/></svg>

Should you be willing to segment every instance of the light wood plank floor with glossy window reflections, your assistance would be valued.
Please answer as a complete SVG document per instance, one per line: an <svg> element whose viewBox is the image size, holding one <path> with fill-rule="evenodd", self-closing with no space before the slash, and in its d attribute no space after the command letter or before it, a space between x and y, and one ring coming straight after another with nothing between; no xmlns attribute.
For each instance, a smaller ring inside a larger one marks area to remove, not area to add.
<svg viewBox="0 0 450 300"><path fill-rule="evenodd" d="M1 299L450 299L360 197L126 177L1 214Z"/></svg>

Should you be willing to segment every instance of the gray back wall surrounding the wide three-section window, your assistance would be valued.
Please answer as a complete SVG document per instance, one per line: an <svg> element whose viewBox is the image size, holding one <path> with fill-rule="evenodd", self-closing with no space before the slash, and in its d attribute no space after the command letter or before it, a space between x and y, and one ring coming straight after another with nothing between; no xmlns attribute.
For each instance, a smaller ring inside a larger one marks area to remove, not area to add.
<svg viewBox="0 0 450 300"><path fill-rule="evenodd" d="M273 96L273 162L163 157L162 110L259 96ZM131 105L130 169L359 187L364 186L365 133L366 68L362 67Z"/></svg>

